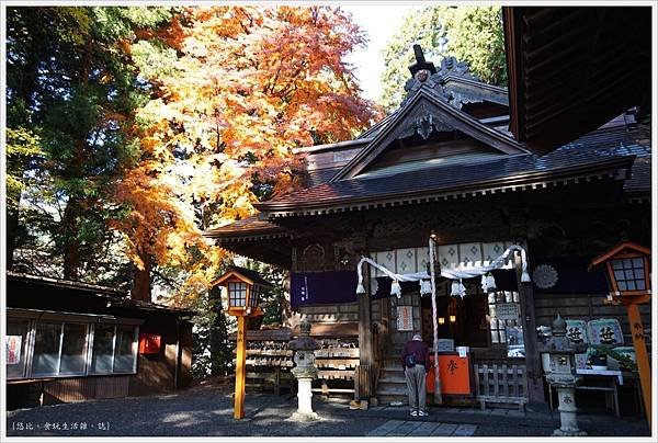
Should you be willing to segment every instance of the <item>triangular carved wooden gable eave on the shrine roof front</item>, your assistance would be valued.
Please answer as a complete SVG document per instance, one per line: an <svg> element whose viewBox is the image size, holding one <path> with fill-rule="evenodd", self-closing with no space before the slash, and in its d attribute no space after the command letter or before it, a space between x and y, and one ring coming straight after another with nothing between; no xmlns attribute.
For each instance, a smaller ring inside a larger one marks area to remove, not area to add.
<svg viewBox="0 0 658 443"><path fill-rule="evenodd" d="M433 132L458 130L503 154L527 154L513 138L490 128L449 103L449 98L435 93L432 84L422 84L416 94L372 141L330 182L351 179L361 173L393 141L415 134L428 139Z"/></svg>

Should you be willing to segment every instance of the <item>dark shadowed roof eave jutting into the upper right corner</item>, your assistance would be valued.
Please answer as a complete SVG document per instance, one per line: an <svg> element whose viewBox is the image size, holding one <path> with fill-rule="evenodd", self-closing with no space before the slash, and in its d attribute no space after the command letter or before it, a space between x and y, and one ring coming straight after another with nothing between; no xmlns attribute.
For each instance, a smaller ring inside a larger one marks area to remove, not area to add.
<svg viewBox="0 0 658 443"><path fill-rule="evenodd" d="M545 154L651 105L651 8L506 7L510 129Z"/></svg>

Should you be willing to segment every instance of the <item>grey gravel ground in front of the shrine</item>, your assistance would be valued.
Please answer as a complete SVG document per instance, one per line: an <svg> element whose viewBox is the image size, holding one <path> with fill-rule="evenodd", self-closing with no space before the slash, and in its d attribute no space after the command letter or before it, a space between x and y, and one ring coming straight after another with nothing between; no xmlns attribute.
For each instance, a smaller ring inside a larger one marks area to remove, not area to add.
<svg viewBox="0 0 658 443"><path fill-rule="evenodd" d="M248 393L246 418L237 421L232 419L230 394L203 386L172 395L9 411L7 432L13 436L362 436L388 420L409 420L405 407L350 410L345 399L314 397L314 408L321 419L299 423L290 420L296 409L296 397ZM476 424L475 435L480 436L548 436L559 425L558 416L546 412L521 416L517 411L456 408L431 408L430 411L430 417L422 420ZM578 421L589 435L648 435L646 422L639 418L579 416ZM29 423L31 430L26 429ZM57 428L53 429L53 424Z"/></svg>

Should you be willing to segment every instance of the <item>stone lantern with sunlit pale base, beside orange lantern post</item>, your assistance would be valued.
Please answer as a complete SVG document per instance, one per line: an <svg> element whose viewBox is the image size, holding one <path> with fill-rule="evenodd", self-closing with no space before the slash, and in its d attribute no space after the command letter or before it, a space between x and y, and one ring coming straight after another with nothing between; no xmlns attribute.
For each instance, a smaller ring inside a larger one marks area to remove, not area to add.
<svg viewBox="0 0 658 443"><path fill-rule="evenodd" d="M292 418L300 421L319 419L318 414L313 411L313 391L310 390L310 383L318 376L313 351L319 345L309 336L310 322L304 320L299 326L299 337L288 343L288 349L295 352L293 357L295 367L291 372L297 378L297 411L293 413Z"/></svg>

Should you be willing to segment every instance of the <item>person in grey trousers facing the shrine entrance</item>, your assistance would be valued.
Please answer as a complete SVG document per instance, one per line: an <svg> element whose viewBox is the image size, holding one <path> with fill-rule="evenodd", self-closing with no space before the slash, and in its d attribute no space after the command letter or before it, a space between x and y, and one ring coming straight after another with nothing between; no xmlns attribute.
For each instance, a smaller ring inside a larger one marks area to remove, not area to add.
<svg viewBox="0 0 658 443"><path fill-rule="evenodd" d="M430 347L422 341L419 333L405 344L402 351L402 371L409 390L409 408L411 417L427 417L426 374L430 371Z"/></svg>

